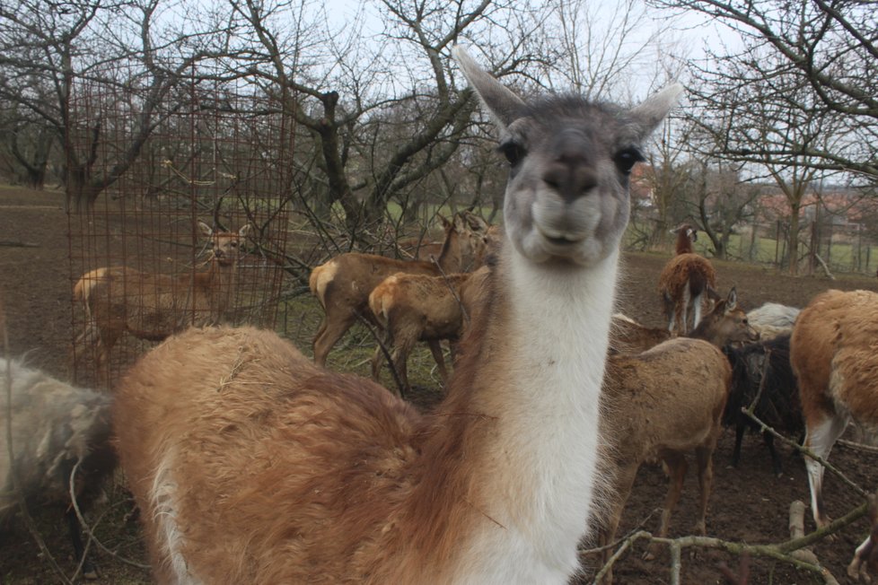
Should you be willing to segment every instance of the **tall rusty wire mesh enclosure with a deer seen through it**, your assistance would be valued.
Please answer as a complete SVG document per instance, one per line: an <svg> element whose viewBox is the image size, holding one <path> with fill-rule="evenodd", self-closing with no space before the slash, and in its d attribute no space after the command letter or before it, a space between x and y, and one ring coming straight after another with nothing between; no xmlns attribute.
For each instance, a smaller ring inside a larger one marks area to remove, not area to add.
<svg viewBox="0 0 878 585"><path fill-rule="evenodd" d="M138 355L190 325L274 327L294 190L285 109L192 86L154 116L127 161L146 98L98 83L76 89L69 164L80 181L68 188L75 382L110 388ZM120 165L117 179L95 188Z"/></svg>

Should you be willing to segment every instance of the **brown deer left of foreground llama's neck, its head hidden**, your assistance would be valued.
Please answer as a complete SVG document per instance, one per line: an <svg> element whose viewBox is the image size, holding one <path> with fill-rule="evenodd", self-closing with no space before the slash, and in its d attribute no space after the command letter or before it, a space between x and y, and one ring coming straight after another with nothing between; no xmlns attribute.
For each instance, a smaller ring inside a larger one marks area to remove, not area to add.
<svg viewBox="0 0 878 585"><path fill-rule="evenodd" d="M443 383L448 371L439 341L461 339L470 312L477 306L476 293L489 268L446 276L398 273L382 280L369 294L369 309L384 329L383 345L390 349L391 367L399 377L399 395L408 392L408 354L417 341L426 341L439 367ZM380 382L383 349L372 359L372 379Z"/></svg>

